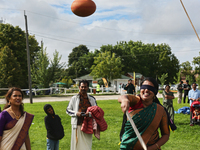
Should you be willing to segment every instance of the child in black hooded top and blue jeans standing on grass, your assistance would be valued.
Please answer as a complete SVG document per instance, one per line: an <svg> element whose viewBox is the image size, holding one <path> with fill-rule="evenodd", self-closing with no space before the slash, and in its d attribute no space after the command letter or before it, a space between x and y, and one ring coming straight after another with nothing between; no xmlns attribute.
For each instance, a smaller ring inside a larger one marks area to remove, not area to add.
<svg viewBox="0 0 200 150"><path fill-rule="evenodd" d="M54 109L50 104L44 106L44 111L47 114L44 118L47 130L47 150L59 150L59 140L64 137L61 119L55 114Z"/></svg>

